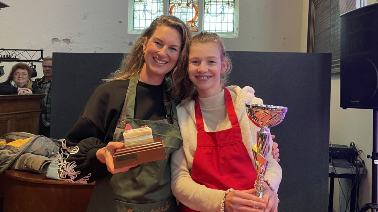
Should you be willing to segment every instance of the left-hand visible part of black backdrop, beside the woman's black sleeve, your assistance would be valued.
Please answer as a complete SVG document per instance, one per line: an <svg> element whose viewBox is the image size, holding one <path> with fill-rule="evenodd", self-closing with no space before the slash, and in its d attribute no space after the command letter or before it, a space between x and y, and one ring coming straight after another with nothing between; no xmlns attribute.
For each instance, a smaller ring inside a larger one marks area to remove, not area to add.
<svg viewBox="0 0 378 212"><path fill-rule="evenodd" d="M122 58L117 53L53 53L52 138L64 138L95 88L119 68Z"/></svg>

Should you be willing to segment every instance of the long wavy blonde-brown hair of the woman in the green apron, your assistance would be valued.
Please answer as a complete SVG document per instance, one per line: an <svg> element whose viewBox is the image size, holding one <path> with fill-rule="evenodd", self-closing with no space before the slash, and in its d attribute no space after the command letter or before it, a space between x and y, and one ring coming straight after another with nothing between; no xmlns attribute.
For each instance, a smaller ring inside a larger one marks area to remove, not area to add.
<svg viewBox="0 0 378 212"><path fill-rule="evenodd" d="M181 35L181 52L179 54L177 64L170 71L166 77L175 75L177 70L186 70L188 66L188 53L189 53L189 39L191 37L188 26L175 16L159 16L154 21L152 21L150 27L143 30L142 35L138 38L135 45L132 47L131 52L124 56L121 62L120 68L111 73L108 79L103 79L103 81L116 81L116 80L127 80L133 75L139 74L144 65L144 55L143 55L143 42L145 37L147 41L151 38L158 27L172 27L176 29ZM167 35L169 36L169 35Z"/></svg>

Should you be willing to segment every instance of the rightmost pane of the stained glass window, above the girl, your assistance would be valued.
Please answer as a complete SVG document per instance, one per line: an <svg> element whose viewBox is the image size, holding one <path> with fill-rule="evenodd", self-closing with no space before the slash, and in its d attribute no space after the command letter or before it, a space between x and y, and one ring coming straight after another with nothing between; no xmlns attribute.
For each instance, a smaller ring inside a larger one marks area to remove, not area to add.
<svg viewBox="0 0 378 212"><path fill-rule="evenodd" d="M234 31L234 0L205 0L203 30Z"/></svg>

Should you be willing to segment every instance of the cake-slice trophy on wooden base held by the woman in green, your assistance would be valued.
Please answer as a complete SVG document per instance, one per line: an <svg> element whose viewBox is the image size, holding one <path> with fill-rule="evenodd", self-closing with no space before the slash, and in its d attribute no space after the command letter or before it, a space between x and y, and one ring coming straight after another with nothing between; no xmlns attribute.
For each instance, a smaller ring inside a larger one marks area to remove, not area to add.
<svg viewBox="0 0 378 212"><path fill-rule="evenodd" d="M164 141L160 137L153 138L152 129L148 126L132 129L127 124L123 137L125 147L113 154L114 168L167 159Z"/></svg>

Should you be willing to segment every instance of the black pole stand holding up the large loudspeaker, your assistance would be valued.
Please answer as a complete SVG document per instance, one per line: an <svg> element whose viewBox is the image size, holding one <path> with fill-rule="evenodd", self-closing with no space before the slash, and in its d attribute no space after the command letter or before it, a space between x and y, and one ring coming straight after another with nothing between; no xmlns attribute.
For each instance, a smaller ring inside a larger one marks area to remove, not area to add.
<svg viewBox="0 0 378 212"><path fill-rule="evenodd" d="M372 212L378 212L377 205L377 163L378 163L378 114L377 109L373 109L373 151L372 155L367 155L367 158L372 159L372 203L365 204L359 212L367 212L369 209Z"/></svg>

